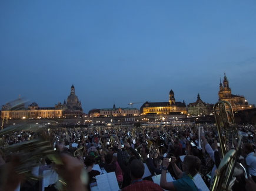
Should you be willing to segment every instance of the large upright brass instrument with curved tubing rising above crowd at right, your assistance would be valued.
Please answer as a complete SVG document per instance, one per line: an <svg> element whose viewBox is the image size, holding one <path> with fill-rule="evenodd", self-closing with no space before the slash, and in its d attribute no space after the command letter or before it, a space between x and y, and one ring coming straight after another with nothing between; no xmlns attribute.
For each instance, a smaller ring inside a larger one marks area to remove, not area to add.
<svg viewBox="0 0 256 191"><path fill-rule="evenodd" d="M214 115L220 139L222 160L216 170L211 190L232 190L236 179L233 172L241 151L241 137L235 126L234 114L228 101L218 101L214 105ZM235 144L236 146L234 146Z"/></svg>

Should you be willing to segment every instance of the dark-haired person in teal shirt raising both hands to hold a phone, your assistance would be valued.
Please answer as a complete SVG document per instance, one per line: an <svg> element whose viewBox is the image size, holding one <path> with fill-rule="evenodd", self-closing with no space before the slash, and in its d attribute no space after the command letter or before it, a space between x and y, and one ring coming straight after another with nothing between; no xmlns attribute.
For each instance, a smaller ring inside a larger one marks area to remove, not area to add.
<svg viewBox="0 0 256 191"><path fill-rule="evenodd" d="M162 161L163 168L161 173L160 186L166 190L197 191L197 186L195 186L195 183L193 182L192 179L193 176L195 176L198 173L198 170L200 169L200 159L197 156L185 156L184 161L182 162L182 169L184 170L184 172L182 172L182 170L179 169L178 166L176 165L175 157L171 158L171 162L169 161L169 158L165 158ZM175 180L173 182L167 182L166 180L166 173L170 163L174 170L175 175L178 177L178 180Z"/></svg>

